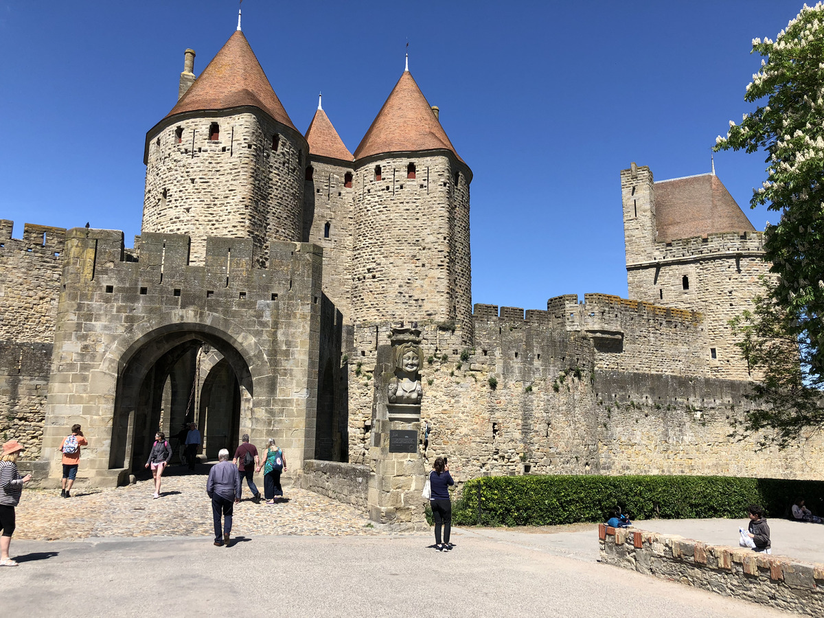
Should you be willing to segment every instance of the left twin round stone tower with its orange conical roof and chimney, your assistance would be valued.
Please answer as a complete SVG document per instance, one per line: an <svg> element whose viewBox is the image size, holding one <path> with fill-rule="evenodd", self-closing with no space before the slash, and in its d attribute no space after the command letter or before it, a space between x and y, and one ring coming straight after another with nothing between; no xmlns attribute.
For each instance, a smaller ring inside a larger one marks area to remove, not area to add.
<svg viewBox="0 0 824 618"><path fill-rule="evenodd" d="M309 147L246 37L232 37L194 79L187 49L180 99L146 136L143 232L189 234L190 263L207 236L250 238L265 265L269 241L302 240Z"/></svg>

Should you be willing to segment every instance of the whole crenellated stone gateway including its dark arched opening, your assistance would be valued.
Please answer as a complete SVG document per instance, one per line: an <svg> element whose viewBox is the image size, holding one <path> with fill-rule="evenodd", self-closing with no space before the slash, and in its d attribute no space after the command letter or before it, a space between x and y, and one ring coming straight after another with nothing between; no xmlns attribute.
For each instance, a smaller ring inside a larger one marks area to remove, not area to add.
<svg viewBox="0 0 824 618"><path fill-rule="evenodd" d="M290 468L316 452L321 250L272 242L268 268L248 239L209 238L189 265L188 236L143 234L134 250L106 230L67 233L43 457L58 476L66 428L89 440L80 477L123 483L158 428L194 421L205 455L238 436L274 437ZM325 353L323 354L325 356Z"/></svg>

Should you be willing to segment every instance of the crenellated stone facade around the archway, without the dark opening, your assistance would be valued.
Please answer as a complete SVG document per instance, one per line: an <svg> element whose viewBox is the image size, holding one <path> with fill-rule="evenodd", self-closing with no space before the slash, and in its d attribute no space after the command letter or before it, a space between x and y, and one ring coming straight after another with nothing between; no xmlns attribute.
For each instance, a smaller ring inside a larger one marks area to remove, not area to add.
<svg viewBox="0 0 824 618"><path fill-rule="evenodd" d="M122 232L68 232L44 433L53 474L66 428L81 423L88 475L116 482L112 462L123 456L113 450L128 462L131 448L113 421L119 364L159 358L192 337L227 344L248 364L253 407L241 411L241 433L259 444L274 436L295 471L313 456L320 250L272 243L270 268L259 269L248 239L210 238L204 266L188 264L188 246L187 236L143 234L138 262L121 262Z"/></svg>

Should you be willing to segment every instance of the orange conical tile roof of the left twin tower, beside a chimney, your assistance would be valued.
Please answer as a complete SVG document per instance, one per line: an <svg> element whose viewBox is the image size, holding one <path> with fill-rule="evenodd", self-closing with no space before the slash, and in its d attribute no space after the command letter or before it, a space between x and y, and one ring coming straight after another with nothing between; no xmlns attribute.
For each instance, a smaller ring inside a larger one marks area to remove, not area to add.
<svg viewBox="0 0 824 618"><path fill-rule="evenodd" d="M226 110L241 105L257 107L295 129L246 37L235 30L166 118L186 111Z"/></svg>

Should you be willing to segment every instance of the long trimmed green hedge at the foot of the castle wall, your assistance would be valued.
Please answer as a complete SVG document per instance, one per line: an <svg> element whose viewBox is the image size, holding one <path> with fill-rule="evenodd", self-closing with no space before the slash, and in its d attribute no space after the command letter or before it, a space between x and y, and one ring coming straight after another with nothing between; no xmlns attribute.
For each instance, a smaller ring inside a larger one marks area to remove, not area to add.
<svg viewBox="0 0 824 618"><path fill-rule="evenodd" d="M786 517L803 496L824 514L824 481L732 476L485 476L458 492L452 522L472 526L554 526L604 522L616 504L631 519L746 517L760 504ZM428 518L431 517L427 513ZM430 519L431 522L431 519Z"/></svg>

